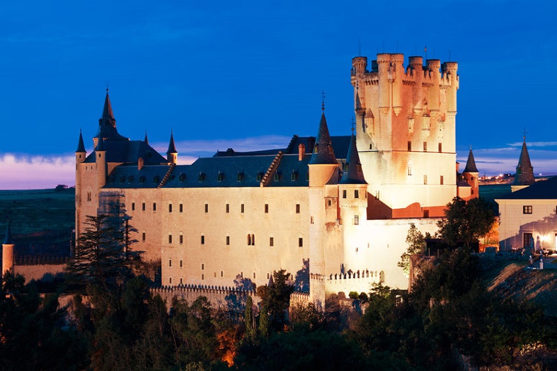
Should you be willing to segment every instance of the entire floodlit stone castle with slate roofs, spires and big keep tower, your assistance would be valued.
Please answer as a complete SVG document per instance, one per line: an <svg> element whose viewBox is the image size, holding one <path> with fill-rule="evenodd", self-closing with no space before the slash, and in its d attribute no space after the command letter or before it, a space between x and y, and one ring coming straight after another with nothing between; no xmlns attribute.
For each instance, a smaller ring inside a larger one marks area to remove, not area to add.
<svg viewBox="0 0 557 371"><path fill-rule="evenodd" d="M407 287L397 262L410 223L433 234L453 197L478 196L478 170L471 152L464 173L455 168L457 63L403 62L378 54L368 70L353 58L351 136L329 135L322 106L315 137L190 165L178 164L173 134L166 157L147 137L120 135L107 91L93 152L81 133L75 152L77 235L116 198L163 285L223 287L238 275L262 285L308 267L314 301L374 282Z"/></svg>

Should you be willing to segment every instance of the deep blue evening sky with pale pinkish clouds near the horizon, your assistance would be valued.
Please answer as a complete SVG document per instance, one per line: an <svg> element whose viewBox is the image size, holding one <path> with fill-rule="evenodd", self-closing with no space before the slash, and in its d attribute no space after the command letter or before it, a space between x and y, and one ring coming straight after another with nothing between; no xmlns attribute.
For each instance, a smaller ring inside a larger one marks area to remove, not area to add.
<svg viewBox="0 0 557 371"><path fill-rule="evenodd" d="M357 8L359 6L359 8ZM0 5L0 189L73 181L107 84L120 134L180 159L350 134L350 68L377 52L459 63L457 159L557 173L552 1L21 1ZM360 41L359 41L360 40Z"/></svg>

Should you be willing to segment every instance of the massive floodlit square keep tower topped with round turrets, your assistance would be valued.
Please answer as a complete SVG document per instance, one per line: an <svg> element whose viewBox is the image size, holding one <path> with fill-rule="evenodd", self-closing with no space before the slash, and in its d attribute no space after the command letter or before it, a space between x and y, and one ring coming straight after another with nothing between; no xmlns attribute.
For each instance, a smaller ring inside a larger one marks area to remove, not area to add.
<svg viewBox="0 0 557 371"><path fill-rule="evenodd" d="M352 59L356 144L370 219L442 216L456 196L457 63L377 54Z"/></svg>

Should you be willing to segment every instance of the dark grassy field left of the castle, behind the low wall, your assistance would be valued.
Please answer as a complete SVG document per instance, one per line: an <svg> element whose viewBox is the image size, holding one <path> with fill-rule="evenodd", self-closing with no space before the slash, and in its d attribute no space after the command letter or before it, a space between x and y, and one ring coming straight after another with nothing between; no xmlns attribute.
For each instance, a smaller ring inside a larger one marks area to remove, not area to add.
<svg viewBox="0 0 557 371"><path fill-rule="evenodd" d="M0 235L10 219L17 255L68 255L74 189L0 191Z"/></svg>

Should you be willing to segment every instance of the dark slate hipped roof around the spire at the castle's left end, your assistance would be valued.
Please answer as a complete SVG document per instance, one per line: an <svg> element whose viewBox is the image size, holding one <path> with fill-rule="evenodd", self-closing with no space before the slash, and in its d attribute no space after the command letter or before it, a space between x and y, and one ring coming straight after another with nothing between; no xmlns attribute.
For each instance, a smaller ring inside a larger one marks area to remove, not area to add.
<svg viewBox="0 0 557 371"><path fill-rule="evenodd" d="M163 164L167 160L159 152L143 141L103 141L104 150L107 151L107 162L135 163L143 157L145 164ZM99 142L100 143L100 142ZM95 151L91 152L85 162L95 162Z"/></svg>

